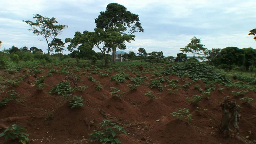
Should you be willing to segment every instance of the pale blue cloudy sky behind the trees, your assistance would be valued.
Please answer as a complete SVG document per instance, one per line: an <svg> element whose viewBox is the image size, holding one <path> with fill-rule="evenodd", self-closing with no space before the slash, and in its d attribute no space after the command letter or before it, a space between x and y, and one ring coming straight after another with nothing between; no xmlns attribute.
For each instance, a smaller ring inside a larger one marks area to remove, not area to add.
<svg viewBox="0 0 256 144"><path fill-rule="evenodd" d="M28 31L30 26L22 20L34 21L34 14L55 17L58 24L68 26L58 36L65 40L76 31L94 31L94 18L112 2L138 14L144 28L143 33L135 33L135 41L126 44L126 52L145 48L176 56L193 36L208 49L256 48L253 36L248 36L256 28L255 0L1 0L0 49L36 46L47 52L46 42Z"/></svg>

